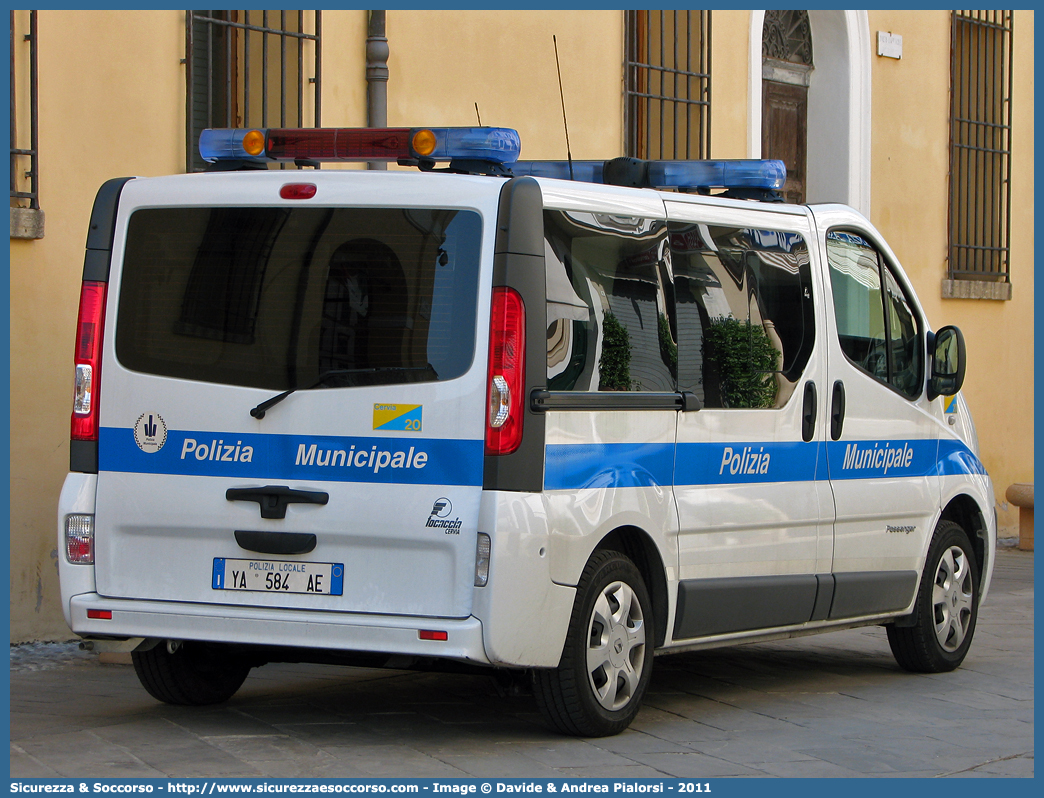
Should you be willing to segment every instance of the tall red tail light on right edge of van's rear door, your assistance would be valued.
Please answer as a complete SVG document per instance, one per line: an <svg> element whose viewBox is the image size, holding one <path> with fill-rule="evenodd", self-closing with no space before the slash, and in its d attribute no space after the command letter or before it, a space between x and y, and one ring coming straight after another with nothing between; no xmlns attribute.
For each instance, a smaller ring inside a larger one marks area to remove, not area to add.
<svg viewBox="0 0 1044 798"><path fill-rule="evenodd" d="M514 288L497 287L490 320L487 454L511 454L522 443L524 385L525 306Z"/></svg>

